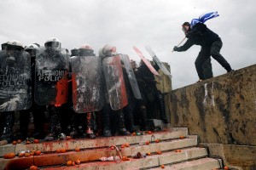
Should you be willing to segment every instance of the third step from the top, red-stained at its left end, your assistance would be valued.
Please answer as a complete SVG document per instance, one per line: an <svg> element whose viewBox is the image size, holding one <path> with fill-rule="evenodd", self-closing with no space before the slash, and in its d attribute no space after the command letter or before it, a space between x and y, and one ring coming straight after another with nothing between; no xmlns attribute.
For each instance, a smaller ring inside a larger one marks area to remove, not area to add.
<svg viewBox="0 0 256 170"><path fill-rule="evenodd" d="M76 166L61 166L61 167L45 167L44 169L87 169L87 170L103 170L103 169L141 169L160 167L161 163L176 163L179 161L186 161L189 159L198 159L207 156L207 150L205 148L189 148L184 149L181 152L168 151L161 155L146 156L140 159L131 158L130 161L93 161L81 163ZM218 166L216 166L217 168Z"/></svg>

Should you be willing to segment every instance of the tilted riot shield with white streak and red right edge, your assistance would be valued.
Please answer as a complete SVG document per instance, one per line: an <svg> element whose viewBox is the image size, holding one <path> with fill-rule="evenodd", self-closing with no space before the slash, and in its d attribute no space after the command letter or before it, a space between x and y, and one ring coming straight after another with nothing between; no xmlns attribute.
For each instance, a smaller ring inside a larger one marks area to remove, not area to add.
<svg viewBox="0 0 256 170"><path fill-rule="evenodd" d="M128 105L120 56L103 59L102 66L108 88L109 102L113 111L117 111Z"/></svg>

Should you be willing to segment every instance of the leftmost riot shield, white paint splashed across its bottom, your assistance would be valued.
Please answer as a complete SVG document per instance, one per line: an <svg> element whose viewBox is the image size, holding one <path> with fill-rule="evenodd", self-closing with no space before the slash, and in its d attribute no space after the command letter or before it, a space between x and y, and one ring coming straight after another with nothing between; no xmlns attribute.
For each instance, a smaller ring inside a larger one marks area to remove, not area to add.
<svg viewBox="0 0 256 170"><path fill-rule="evenodd" d="M30 55L25 51L0 51L0 112L31 107L30 62Z"/></svg>

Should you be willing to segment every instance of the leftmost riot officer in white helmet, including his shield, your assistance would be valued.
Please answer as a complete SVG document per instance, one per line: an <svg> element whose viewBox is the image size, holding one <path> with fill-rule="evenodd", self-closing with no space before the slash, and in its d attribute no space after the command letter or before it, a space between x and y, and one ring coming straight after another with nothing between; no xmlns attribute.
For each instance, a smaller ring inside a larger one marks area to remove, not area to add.
<svg viewBox="0 0 256 170"><path fill-rule="evenodd" d="M0 112L2 116L1 139L13 138L14 111L31 106L30 56L24 52L20 41L9 41L0 52Z"/></svg>

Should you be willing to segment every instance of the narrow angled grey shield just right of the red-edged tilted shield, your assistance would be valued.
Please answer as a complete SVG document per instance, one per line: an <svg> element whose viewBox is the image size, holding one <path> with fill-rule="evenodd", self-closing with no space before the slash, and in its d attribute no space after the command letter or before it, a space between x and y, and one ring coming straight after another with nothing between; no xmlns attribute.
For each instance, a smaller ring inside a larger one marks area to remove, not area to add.
<svg viewBox="0 0 256 170"><path fill-rule="evenodd" d="M131 89L132 89L132 93L134 95L134 97L136 99L142 99L142 94L140 92L140 89L137 85L137 79L135 77L135 74L134 74L134 71L131 67L131 62L130 62L130 59L128 57L128 55L123 55L123 54L120 54L121 56L121 59L125 65L125 71L127 72L127 76L129 78L129 82L131 84Z"/></svg>

